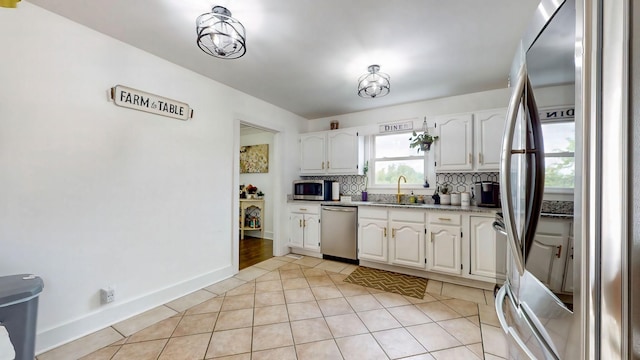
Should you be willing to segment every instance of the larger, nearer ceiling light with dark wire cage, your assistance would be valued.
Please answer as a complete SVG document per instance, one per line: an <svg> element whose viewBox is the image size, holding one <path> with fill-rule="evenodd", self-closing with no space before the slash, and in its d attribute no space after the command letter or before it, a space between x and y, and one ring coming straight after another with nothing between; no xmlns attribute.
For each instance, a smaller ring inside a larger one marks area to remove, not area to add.
<svg viewBox="0 0 640 360"><path fill-rule="evenodd" d="M247 52L244 26L223 6L214 6L211 12L198 16L196 31L198 46L211 56L237 59Z"/></svg>

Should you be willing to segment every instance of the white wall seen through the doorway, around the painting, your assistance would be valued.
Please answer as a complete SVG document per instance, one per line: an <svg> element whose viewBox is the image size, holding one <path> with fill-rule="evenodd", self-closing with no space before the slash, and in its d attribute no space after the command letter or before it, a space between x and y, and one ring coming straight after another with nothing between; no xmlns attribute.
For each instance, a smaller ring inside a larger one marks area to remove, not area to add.
<svg viewBox="0 0 640 360"><path fill-rule="evenodd" d="M273 134L270 132L261 132L257 134L243 135L240 137L240 145L269 145L269 172L268 173L251 173L240 174L240 184L249 185L252 184L258 187L258 190L262 191L264 196L265 213L262 219L262 226L264 226L264 237L266 239L273 239L273 200L274 200L274 168L273 155ZM247 235L260 236L259 231L246 231Z"/></svg>

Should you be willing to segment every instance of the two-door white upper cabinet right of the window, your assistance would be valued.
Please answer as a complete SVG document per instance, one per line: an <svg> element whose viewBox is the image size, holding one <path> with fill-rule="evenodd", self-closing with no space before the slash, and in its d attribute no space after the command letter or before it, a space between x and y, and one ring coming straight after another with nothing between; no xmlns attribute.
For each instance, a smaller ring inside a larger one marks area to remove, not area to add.
<svg viewBox="0 0 640 360"><path fill-rule="evenodd" d="M497 109L436 118L436 171L498 171L505 117Z"/></svg>

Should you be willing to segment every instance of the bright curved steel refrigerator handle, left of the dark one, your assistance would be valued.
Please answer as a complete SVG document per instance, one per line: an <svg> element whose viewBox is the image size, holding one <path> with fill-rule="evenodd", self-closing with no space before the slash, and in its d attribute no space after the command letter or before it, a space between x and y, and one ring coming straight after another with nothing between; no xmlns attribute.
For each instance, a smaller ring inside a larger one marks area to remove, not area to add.
<svg viewBox="0 0 640 360"><path fill-rule="evenodd" d="M511 243L511 252L515 259L515 265L520 276L524 274L524 256L522 254L522 244L518 240L518 232L513 217L513 199L511 198L511 154L513 149L513 135L515 132L518 108L522 102L527 83L527 71L523 64L518 71L518 81L509 100L507 111L507 123L502 138L502 153L500 161L500 197L502 206L506 208L504 214L504 226L507 233L507 241Z"/></svg>

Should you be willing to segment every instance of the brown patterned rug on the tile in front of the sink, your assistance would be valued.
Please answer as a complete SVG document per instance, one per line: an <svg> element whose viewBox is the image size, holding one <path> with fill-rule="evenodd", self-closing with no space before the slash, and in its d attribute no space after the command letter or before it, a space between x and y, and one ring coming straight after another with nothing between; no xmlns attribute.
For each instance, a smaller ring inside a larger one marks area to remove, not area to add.
<svg viewBox="0 0 640 360"><path fill-rule="evenodd" d="M427 279L359 266L344 281L422 299Z"/></svg>

